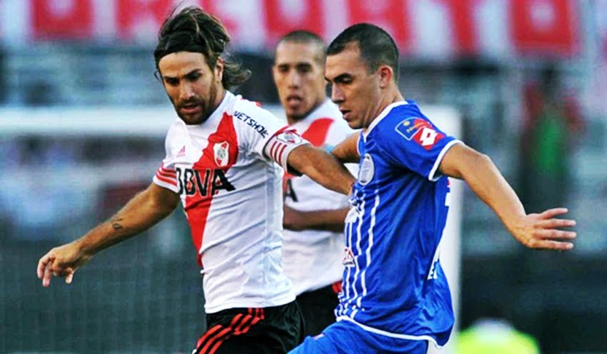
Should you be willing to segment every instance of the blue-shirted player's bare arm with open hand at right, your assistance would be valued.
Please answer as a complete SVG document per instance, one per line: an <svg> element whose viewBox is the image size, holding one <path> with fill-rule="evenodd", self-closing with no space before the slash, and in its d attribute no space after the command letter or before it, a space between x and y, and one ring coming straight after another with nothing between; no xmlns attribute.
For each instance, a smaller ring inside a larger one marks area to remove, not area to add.
<svg viewBox="0 0 607 354"><path fill-rule="evenodd" d="M555 218L567 213L567 209L554 208L543 213L527 214L516 193L488 156L463 144L456 144L443 157L439 170L446 176L466 181L523 245L548 250L573 248L573 243L568 241L576 238L576 233L558 228L575 226L576 221Z"/></svg>

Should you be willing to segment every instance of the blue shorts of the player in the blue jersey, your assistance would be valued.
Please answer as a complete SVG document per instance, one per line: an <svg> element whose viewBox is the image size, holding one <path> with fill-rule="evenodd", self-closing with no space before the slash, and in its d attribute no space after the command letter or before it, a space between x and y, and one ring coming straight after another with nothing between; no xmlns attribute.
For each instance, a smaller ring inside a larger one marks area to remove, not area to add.
<svg viewBox="0 0 607 354"><path fill-rule="evenodd" d="M407 353L426 354L426 340L391 338L363 330L346 320L328 326L321 335L307 337L291 354L352 354L352 353Z"/></svg>

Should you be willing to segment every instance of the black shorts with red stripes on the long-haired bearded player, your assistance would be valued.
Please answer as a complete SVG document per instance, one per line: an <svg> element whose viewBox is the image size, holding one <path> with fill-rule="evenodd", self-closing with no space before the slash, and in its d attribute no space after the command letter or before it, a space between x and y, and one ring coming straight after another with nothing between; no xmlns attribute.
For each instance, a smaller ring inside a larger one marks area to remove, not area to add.
<svg viewBox="0 0 607 354"><path fill-rule="evenodd" d="M295 301L209 313L206 328L193 354L287 353L304 338L303 316Z"/></svg>

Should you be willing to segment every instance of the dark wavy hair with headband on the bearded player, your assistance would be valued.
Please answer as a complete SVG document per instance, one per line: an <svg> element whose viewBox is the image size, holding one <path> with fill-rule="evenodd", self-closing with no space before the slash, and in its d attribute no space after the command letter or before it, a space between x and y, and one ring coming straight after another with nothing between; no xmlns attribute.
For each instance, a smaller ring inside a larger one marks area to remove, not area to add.
<svg viewBox="0 0 607 354"><path fill-rule="evenodd" d="M158 44L154 49L156 70L164 56L178 51L191 51L204 54L206 64L214 69L217 60L224 59L224 76L221 84L226 89L233 89L243 84L251 76L245 69L226 53L230 36L226 27L215 16L206 13L196 6L188 6L177 12L171 11L158 33Z"/></svg>

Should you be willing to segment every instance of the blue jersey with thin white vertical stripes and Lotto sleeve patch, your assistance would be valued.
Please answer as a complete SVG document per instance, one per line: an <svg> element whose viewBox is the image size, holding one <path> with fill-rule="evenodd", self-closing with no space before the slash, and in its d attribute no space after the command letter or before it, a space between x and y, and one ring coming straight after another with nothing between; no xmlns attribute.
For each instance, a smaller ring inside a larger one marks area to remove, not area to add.
<svg viewBox="0 0 607 354"><path fill-rule="evenodd" d="M361 133L338 320L394 338L446 343L453 309L438 244L449 186L437 170L456 143L413 101L392 103Z"/></svg>

